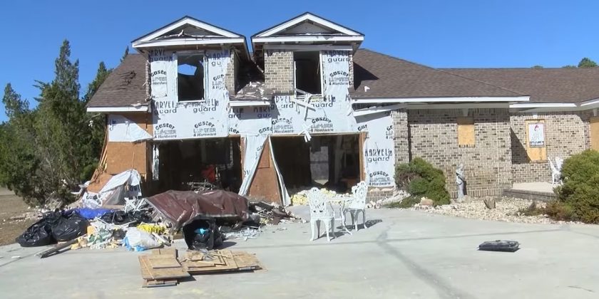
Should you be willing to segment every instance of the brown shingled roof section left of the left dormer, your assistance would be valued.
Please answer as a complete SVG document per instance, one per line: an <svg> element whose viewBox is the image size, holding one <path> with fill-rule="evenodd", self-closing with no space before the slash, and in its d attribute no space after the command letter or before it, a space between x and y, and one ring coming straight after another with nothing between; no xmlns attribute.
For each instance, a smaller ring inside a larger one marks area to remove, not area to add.
<svg viewBox="0 0 599 299"><path fill-rule="evenodd" d="M145 101L145 57L129 54L102 83L88 107L147 105Z"/></svg>

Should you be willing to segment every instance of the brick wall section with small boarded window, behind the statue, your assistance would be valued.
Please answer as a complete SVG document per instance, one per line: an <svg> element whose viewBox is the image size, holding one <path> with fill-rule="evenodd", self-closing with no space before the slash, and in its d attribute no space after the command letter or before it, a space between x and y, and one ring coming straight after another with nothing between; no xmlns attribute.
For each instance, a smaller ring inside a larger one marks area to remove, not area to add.
<svg viewBox="0 0 599 299"><path fill-rule="evenodd" d="M456 196L455 171L464 164L466 192L471 196L498 195L511 187L511 140L508 109L471 109L475 145L459 147L457 117L462 110L408 110L411 158L421 157L443 170L446 187ZM396 129L397 130L397 129ZM396 145L404 147L401 138Z"/></svg>

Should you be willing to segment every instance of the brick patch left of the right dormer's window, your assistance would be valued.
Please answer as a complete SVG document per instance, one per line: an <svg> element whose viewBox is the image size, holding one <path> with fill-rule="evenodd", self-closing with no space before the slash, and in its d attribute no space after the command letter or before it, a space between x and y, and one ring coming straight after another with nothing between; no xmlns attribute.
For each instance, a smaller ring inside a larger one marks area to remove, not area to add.
<svg viewBox="0 0 599 299"><path fill-rule="evenodd" d="M264 76L267 90L271 90L273 93L294 93L293 75L292 51L265 51Z"/></svg>

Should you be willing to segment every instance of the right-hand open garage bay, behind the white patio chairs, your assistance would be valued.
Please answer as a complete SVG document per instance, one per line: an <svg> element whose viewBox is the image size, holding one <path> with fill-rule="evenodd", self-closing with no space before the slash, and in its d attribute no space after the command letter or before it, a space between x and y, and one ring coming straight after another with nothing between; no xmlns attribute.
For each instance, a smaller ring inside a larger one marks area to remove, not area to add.
<svg viewBox="0 0 599 299"><path fill-rule="evenodd" d="M285 187L290 194L312 187L351 192L360 179L359 135L271 137Z"/></svg>

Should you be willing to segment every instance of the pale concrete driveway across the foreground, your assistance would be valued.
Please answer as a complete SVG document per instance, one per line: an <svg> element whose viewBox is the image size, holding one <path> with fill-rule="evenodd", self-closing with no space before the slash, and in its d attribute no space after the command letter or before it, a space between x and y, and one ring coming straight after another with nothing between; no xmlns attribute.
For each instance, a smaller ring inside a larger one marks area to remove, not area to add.
<svg viewBox="0 0 599 299"><path fill-rule="evenodd" d="M140 288L140 253L84 249L39 259L42 248L4 246L0 290L3 298L599 298L599 226L387 209L367 219L382 221L331 242L310 242L309 224L272 226L231 247L256 253L267 271L167 288ZM496 239L519 241L521 250L476 251Z"/></svg>

